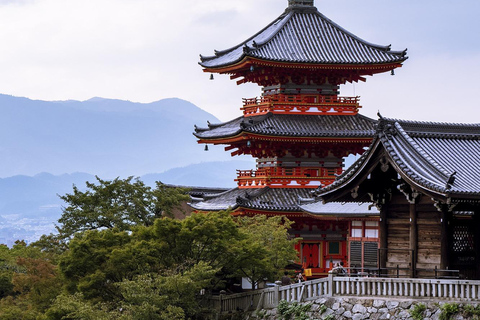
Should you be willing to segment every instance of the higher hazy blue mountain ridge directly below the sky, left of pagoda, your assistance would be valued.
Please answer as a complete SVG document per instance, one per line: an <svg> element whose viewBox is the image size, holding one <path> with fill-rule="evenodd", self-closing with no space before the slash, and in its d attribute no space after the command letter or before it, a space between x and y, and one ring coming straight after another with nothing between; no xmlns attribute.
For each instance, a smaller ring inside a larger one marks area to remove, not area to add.
<svg viewBox="0 0 480 320"><path fill-rule="evenodd" d="M230 160L223 148L204 152L192 136L195 124L219 120L176 98L49 102L0 95L0 115L0 177L39 172L139 176Z"/></svg>

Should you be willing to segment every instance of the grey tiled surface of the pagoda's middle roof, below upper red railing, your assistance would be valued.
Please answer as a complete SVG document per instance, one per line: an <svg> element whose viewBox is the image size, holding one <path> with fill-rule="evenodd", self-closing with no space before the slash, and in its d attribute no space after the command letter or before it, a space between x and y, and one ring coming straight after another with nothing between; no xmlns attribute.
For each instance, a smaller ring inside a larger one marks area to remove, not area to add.
<svg viewBox="0 0 480 320"><path fill-rule="evenodd" d="M237 118L209 128L195 128L199 139L233 137L241 132L284 137L372 137L376 121L363 115L279 115Z"/></svg>

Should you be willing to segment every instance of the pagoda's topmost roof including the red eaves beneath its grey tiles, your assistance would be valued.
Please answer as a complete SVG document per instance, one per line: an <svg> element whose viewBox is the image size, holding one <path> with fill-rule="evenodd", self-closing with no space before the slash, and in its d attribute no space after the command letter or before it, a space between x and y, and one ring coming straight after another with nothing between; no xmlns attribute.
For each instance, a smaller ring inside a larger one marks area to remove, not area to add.
<svg viewBox="0 0 480 320"><path fill-rule="evenodd" d="M313 1L289 1L267 27L214 56L200 56L200 65L205 72L242 78L239 84L338 85L401 67L406 51L355 36L320 13Z"/></svg>

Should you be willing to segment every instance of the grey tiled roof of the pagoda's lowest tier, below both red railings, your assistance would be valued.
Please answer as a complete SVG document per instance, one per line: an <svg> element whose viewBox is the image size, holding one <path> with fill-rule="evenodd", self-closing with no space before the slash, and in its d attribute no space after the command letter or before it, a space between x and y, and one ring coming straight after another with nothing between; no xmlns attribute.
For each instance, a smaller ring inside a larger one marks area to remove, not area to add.
<svg viewBox="0 0 480 320"><path fill-rule="evenodd" d="M190 206L196 210L218 211L238 207L281 212L298 212L300 198L309 197L312 189L239 189L235 188L210 199L192 199Z"/></svg>

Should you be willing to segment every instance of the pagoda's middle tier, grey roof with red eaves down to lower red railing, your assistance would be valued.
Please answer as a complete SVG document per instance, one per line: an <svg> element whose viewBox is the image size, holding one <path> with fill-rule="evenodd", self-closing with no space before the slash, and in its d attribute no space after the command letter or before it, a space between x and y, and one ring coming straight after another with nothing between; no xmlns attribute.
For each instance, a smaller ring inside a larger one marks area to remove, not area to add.
<svg viewBox="0 0 480 320"><path fill-rule="evenodd" d="M256 170L238 170L239 188L318 188L343 172L343 157L371 143L375 120L354 115L242 116L195 128L199 143L225 144L232 156L249 154Z"/></svg>

